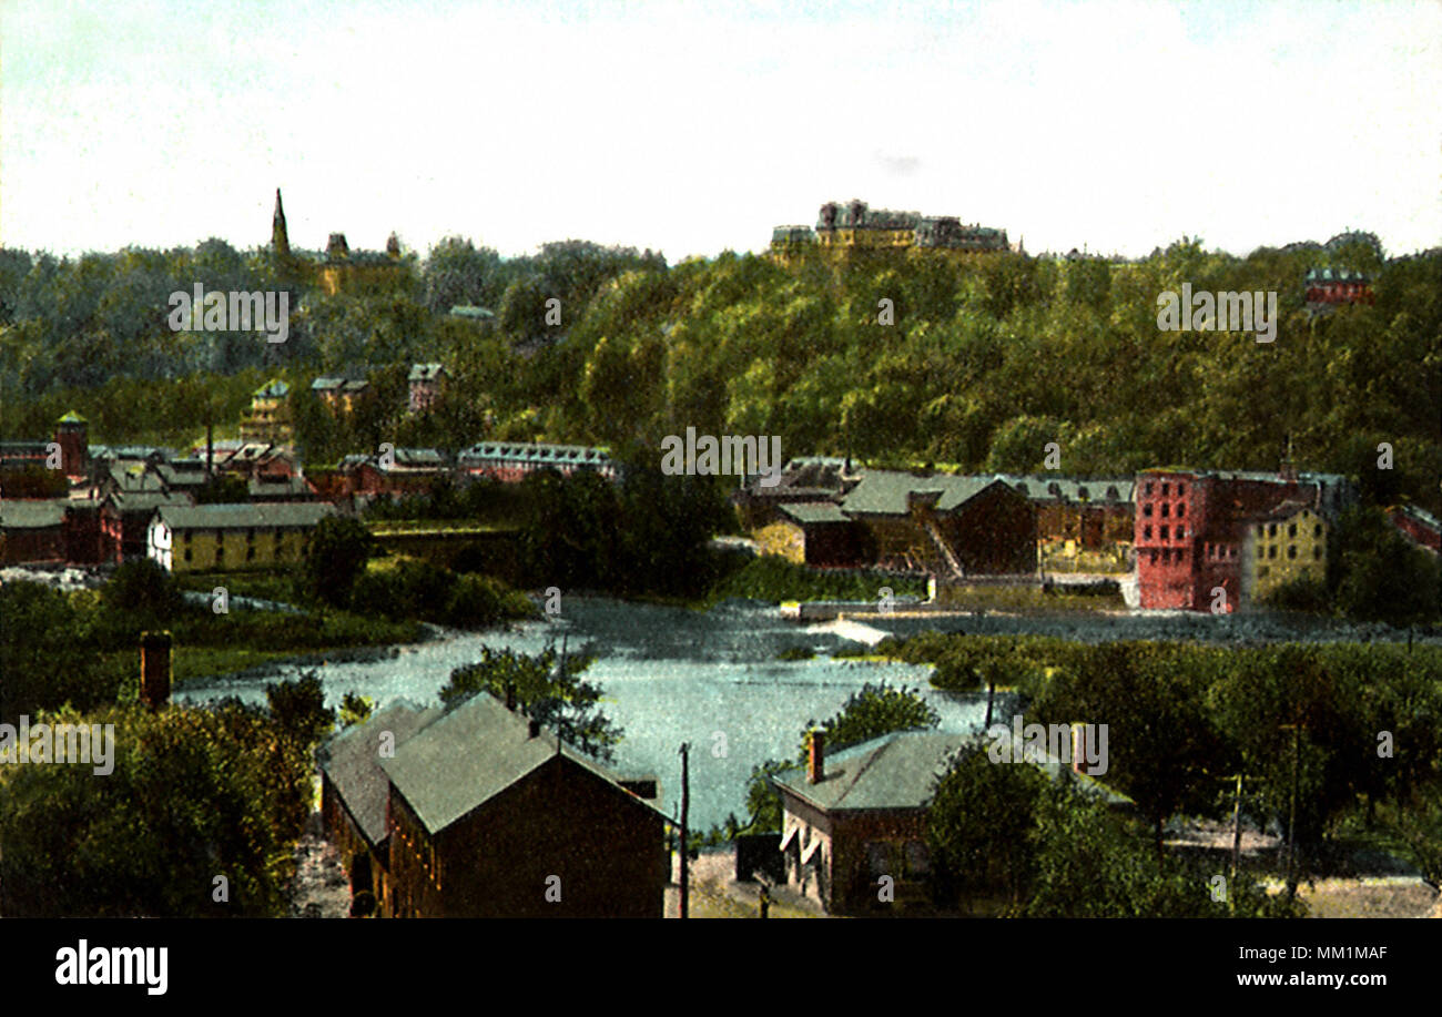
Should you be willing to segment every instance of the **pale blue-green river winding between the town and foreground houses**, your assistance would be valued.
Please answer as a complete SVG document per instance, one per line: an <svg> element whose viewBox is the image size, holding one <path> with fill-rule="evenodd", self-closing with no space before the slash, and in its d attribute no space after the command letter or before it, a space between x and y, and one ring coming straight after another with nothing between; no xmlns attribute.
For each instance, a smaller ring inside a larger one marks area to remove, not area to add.
<svg viewBox="0 0 1442 1017"><path fill-rule="evenodd" d="M1180 638L1249 642L1340 639L1370 633L1292 620L1185 616L1070 615L1066 617L883 617L867 625L911 633L926 628L992 632L1047 632L1073 639ZM751 766L796 754L812 720L835 714L868 681L921 690L940 713L942 730L978 730L985 694L950 695L930 688L929 666L831 659L849 640L780 617L774 606L728 603L708 612L636 604L604 597L567 597L557 617L528 622L509 632L446 632L441 638L392 648L373 659L280 664L225 678L196 678L174 690L183 703L238 695L264 701L265 685L314 668L327 705L358 692L385 705L397 698L433 704L454 668L472 664L482 646L536 653L559 646L590 646L597 661L585 678L603 690L601 708L624 731L614 767L623 775L655 775L662 806L679 814L678 749L689 741L691 825L707 829L728 812L746 819L746 780ZM1433 635L1429 640L1435 640ZM777 661L792 646L818 651L810 661ZM998 704L998 713L1005 704Z"/></svg>

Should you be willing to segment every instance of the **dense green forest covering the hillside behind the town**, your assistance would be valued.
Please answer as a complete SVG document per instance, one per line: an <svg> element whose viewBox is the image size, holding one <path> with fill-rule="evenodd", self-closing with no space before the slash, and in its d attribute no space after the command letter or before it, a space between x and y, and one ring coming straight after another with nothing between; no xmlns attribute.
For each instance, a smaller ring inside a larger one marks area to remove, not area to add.
<svg viewBox="0 0 1442 1017"><path fill-rule="evenodd" d="M1376 304L1309 313L1302 280L1319 265L1367 273ZM688 426L777 434L787 456L963 470L1040 470L1056 441L1071 475L1275 469L1291 446L1301 469L1442 509L1442 251L1389 260L1368 234L1244 258L1184 238L1133 261L913 250L676 265L584 241L502 258L451 238L394 274L327 296L270 251L219 239L79 258L0 251L0 434L48 434L69 408L97 441L179 441L208 420L228 433L278 375L313 463L381 441L655 447ZM290 339L172 332L169 294L196 281L290 289ZM1156 297L1182 283L1275 290L1276 340L1159 330ZM880 323L883 300L894 323ZM457 304L495 317L450 314ZM451 374L425 417L405 414L415 361ZM309 384L340 372L363 374L371 392L335 420ZM1380 443L1390 472L1377 469Z"/></svg>

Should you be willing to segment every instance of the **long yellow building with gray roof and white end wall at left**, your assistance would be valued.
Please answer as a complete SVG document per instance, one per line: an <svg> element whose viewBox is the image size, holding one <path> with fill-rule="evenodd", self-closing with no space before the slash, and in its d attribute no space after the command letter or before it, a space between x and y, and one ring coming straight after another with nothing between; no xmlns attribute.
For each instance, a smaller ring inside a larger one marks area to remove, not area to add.
<svg viewBox="0 0 1442 1017"><path fill-rule="evenodd" d="M146 554L173 573L286 568L306 558L324 503L163 505L150 518Z"/></svg>

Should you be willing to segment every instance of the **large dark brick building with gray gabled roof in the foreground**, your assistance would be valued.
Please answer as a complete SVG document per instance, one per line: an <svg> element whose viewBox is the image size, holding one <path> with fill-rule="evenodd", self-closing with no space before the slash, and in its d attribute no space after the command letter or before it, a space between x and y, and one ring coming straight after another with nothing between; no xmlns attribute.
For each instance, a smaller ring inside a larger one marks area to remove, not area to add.
<svg viewBox="0 0 1442 1017"><path fill-rule="evenodd" d="M666 818L482 692L381 760L397 917L660 917Z"/></svg>

